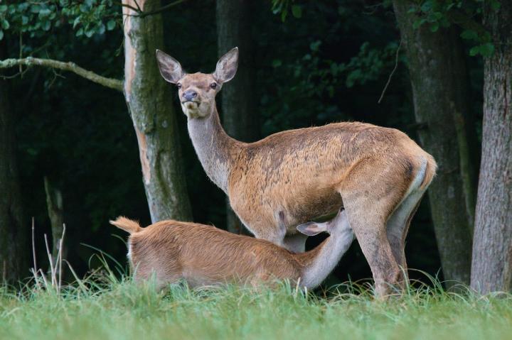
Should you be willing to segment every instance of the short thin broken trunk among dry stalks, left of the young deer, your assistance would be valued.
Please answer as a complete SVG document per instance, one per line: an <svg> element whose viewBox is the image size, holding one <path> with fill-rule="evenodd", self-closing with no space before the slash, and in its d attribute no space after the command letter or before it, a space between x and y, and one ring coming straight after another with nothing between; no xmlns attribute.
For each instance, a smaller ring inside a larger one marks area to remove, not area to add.
<svg viewBox="0 0 512 340"><path fill-rule="evenodd" d="M46 192L46 207L48 209L48 217L52 229L52 257L56 259L60 248L60 238L63 236L64 230L64 208L62 192L53 186L48 178L44 177L44 185ZM63 259L68 255L68 248L63 244L61 257ZM60 274L57 268L58 275Z"/></svg>

